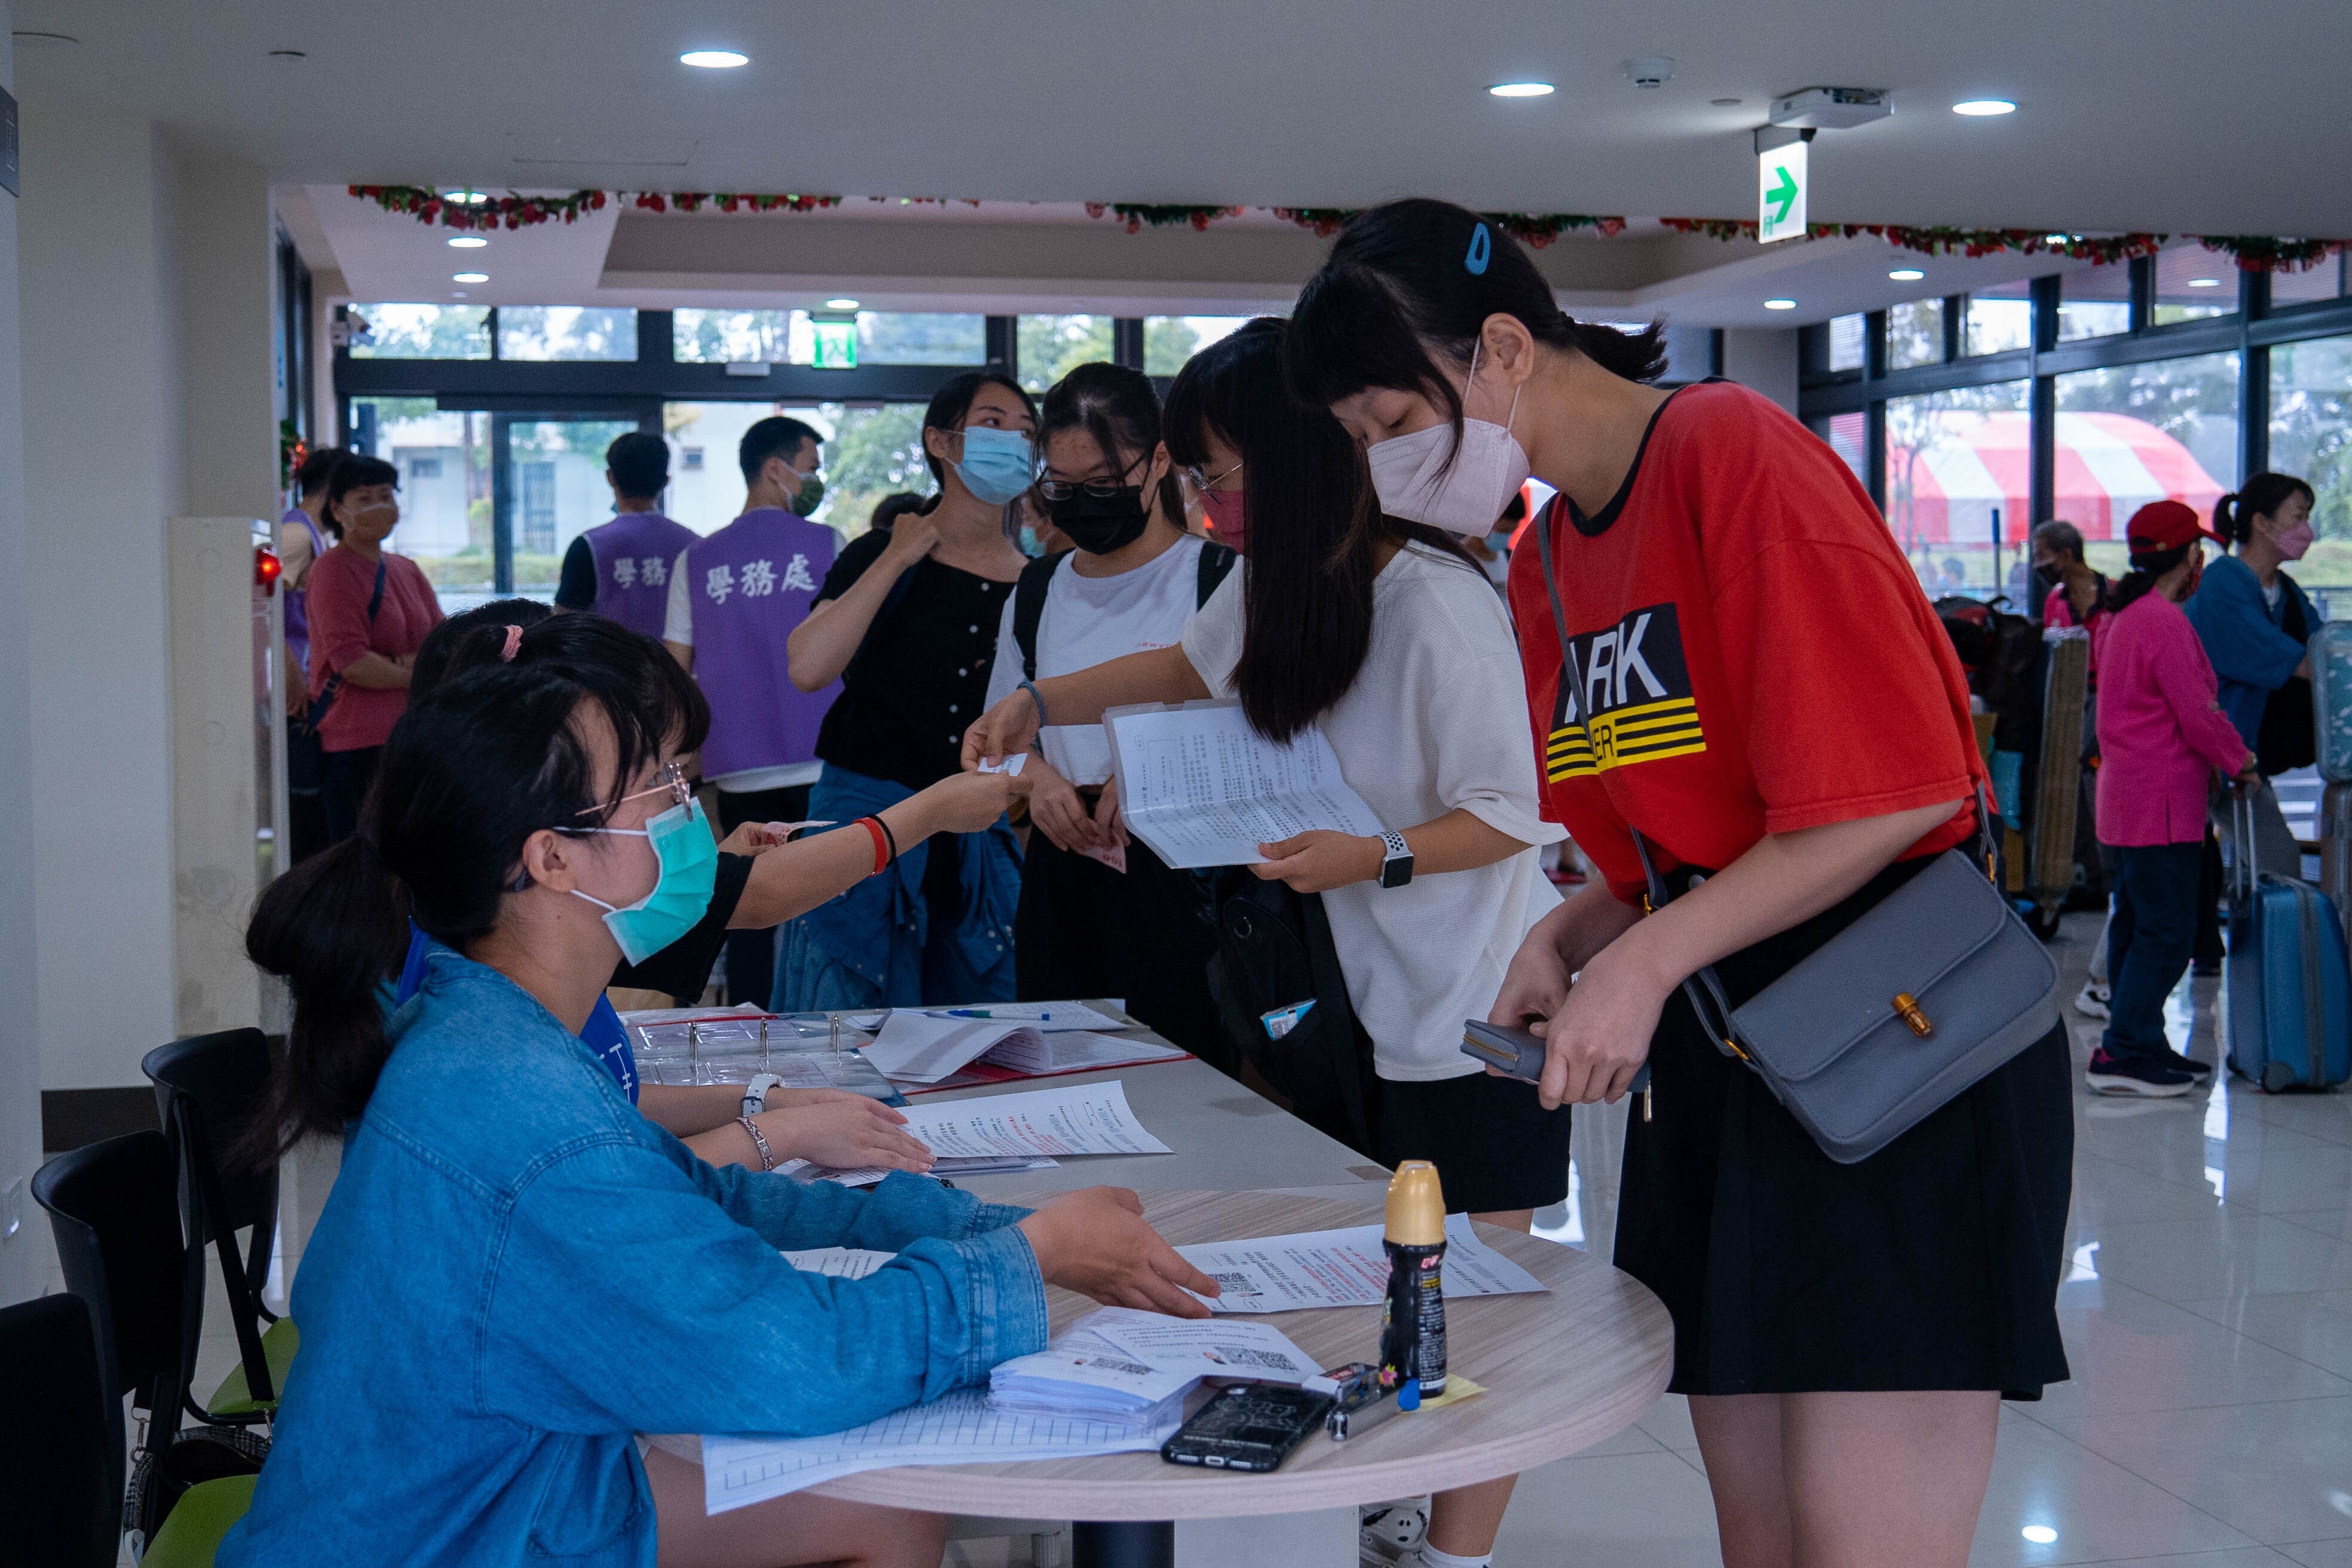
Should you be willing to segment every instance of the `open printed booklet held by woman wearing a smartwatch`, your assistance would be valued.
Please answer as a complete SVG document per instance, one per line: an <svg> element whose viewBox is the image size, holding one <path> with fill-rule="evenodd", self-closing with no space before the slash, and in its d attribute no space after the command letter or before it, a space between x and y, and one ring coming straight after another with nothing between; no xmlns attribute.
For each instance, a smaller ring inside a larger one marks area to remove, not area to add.
<svg viewBox="0 0 2352 1568"><path fill-rule="evenodd" d="M1319 729L1275 745L1240 703L1112 708L1103 715L1127 832L1178 870L1256 865L1258 844L1315 827L1378 837Z"/></svg>

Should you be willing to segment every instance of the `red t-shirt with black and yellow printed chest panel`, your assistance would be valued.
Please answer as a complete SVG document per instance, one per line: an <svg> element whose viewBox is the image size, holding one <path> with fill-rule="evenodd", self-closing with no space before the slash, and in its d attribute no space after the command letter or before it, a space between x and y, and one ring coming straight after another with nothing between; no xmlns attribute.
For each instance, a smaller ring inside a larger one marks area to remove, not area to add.
<svg viewBox="0 0 2352 1568"><path fill-rule="evenodd" d="M1722 870L1766 832L1973 795L1969 684L1919 578L1853 473L1731 383L1658 409L1616 498L1552 529L1562 651L1534 541L1512 555L1543 813L1609 889L1642 863ZM1962 811L1903 858L1964 842Z"/></svg>

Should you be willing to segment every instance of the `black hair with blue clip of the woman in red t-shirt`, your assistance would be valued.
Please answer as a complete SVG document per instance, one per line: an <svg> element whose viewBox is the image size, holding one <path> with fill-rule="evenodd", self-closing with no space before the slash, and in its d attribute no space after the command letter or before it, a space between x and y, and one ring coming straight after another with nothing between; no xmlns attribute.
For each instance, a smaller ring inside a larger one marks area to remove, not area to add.
<svg viewBox="0 0 2352 1568"><path fill-rule="evenodd" d="M1425 393L1461 425L1461 393L1437 364L1470 362L1489 315L1512 315L1550 348L1573 348L1628 381L1665 374L1665 329L1578 322L1517 240L1489 219L1425 197L1359 212L1291 310L1291 390L1331 407L1364 388Z"/></svg>

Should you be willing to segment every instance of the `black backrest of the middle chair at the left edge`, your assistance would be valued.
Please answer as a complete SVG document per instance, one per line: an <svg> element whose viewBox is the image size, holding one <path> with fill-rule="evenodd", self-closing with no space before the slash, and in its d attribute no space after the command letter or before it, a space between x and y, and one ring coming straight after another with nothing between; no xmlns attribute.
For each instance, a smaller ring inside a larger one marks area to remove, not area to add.
<svg viewBox="0 0 2352 1568"><path fill-rule="evenodd" d="M125 1133L59 1154L33 1173L49 1211L66 1288L89 1307L122 1495L122 1394L151 1413L151 1446L179 1432L188 1382L188 1248L179 1237L179 1166L162 1133Z"/></svg>

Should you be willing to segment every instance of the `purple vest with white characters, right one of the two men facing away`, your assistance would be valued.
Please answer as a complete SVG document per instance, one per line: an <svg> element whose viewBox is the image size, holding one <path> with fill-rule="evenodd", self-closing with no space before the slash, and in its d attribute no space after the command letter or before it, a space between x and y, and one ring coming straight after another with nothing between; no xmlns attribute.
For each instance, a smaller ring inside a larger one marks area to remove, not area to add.
<svg viewBox="0 0 2352 1568"><path fill-rule="evenodd" d="M694 679L710 701L706 778L816 757L816 726L842 684L795 686L783 639L809 616L830 569L833 529L774 505L687 545Z"/></svg>

